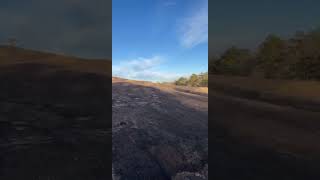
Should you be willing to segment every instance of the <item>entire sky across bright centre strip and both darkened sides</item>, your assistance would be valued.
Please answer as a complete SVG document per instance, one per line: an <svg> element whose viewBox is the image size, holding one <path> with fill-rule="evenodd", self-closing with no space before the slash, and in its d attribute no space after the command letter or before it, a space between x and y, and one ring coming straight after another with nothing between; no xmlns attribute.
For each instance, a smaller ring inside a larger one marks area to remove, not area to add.
<svg viewBox="0 0 320 180"><path fill-rule="evenodd" d="M319 7L319 0L1 0L0 44L15 37L19 47L112 57L114 74L167 81L207 71L208 54L233 45L255 48L270 33L319 28Z"/></svg>

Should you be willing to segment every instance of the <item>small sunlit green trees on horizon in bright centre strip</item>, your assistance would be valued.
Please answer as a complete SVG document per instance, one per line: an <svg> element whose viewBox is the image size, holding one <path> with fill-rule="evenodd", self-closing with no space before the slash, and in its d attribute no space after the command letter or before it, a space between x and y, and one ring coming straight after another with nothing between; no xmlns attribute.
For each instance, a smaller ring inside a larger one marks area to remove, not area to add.
<svg viewBox="0 0 320 180"><path fill-rule="evenodd" d="M178 86L208 87L208 73L192 74L190 77L181 77L174 82Z"/></svg>

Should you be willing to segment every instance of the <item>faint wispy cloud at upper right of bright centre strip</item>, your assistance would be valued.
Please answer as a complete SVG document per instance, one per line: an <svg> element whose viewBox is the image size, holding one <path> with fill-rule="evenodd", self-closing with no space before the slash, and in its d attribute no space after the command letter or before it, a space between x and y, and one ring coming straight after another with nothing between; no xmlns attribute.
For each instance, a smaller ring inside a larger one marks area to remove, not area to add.
<svg viewBox="0 0 320 180"><path fill-rule="evenodd" d="M185 48L192 48L208 42L208 1L194 9L180 26L180 42Z"/></svg>

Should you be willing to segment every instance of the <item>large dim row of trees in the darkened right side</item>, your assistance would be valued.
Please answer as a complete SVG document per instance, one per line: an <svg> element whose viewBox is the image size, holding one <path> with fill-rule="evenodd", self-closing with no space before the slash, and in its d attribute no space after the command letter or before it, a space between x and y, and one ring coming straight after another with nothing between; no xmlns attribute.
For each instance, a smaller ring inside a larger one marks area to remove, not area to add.
<svg viewBox="0 0 320 180"><path fill-rule="evenodd" d="M296 32L289 39L271 34L255 51L231 47L209 60L209 73L320 80L320 29Z"/></svg>

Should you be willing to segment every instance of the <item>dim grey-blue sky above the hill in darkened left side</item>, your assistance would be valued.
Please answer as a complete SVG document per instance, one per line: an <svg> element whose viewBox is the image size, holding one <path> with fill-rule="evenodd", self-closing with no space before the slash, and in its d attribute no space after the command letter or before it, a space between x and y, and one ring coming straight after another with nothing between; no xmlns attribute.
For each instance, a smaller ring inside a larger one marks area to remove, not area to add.
<svg viewBox="0 0 320 180"><path fill-rule="evenodd" d="M111 59L111 0L1 0L0 44Z"/></svg>

